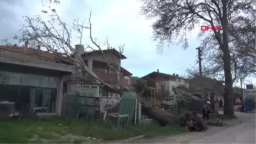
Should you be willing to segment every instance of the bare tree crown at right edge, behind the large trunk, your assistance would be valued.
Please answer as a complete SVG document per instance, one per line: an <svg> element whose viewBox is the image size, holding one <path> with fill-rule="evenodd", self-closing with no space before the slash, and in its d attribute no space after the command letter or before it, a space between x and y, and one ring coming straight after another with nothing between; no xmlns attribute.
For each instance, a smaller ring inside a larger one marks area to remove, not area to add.
<svg viewBox="0 0 256 144"><path fill-rule="evenodd" d="M256 13L254 21L237 19L239 27L232 25L231 37L235 40L233 51L236 54L237 62L241 65L241 71L247 75L255 76L256 72Z"/></svg>

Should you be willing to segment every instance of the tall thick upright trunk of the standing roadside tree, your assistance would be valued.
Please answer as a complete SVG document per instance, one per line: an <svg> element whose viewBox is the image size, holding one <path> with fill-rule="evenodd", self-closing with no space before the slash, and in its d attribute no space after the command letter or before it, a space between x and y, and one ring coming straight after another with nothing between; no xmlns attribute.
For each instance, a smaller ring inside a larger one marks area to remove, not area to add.
<svg viewBox="0 0 256 144"><path fill-rule="evenodd" d="M234 96L233 96L233 81L231 75L231 57L229 52L229 42L227 38L227 0L223 0L223 51L224 73L225 73L225 93L224 93L224 115L234 115Z"/></svg>

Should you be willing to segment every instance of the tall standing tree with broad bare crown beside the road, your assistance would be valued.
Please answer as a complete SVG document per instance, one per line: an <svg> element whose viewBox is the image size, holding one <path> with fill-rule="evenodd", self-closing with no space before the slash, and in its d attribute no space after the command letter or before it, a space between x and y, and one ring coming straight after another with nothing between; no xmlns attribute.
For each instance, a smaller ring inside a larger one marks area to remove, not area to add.
<svg viewBox="0 0 256 144"><path fill-rule="evenodd" d="M255 0L141 0L141 13L153 23L153 37L158 49L165 44L182 44L188 47L187 34L201 25L221 27L221 31L201 31L199 37L204 51L211 53L209 65L223 71L225 78L224 114L233 115L233 81L237 67L244 67L240 61L245 57L237 55L237 45L242 36L255 25ZM250 25L248 25L250 23ZM233 33L233 34L232 34ZM239 38L237 38L237 37ZM246 41L246 40L245 40ZM246 43L246 42L245 42ZM235 72L235 73L234 73ZM232 78L233 76L233 78Z"/></svg>

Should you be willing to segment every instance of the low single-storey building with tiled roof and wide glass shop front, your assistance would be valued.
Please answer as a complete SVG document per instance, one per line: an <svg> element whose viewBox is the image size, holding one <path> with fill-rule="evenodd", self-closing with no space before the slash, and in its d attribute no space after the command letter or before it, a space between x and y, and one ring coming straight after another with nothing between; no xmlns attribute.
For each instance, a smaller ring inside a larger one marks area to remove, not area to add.
<svg viewBox="0 0 256 144"><path fill-rule="evenodd" d="M56 63L55 54L40 47L0 46L0 103L19 111L61 115L63 77L72 65Z"/></svg>

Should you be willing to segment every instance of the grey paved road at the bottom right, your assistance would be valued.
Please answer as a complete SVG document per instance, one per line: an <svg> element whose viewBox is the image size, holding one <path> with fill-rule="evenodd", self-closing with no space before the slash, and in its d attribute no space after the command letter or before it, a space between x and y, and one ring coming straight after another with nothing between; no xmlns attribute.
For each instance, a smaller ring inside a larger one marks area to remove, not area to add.
<svg viewBox="0 0 256 144"><path fill-rule="evenodd" d="M147 144L253 144L256 143L256 113L236 113L238 120L227 127L210 127L206 132L187 133L128 143Z"/></svg>

